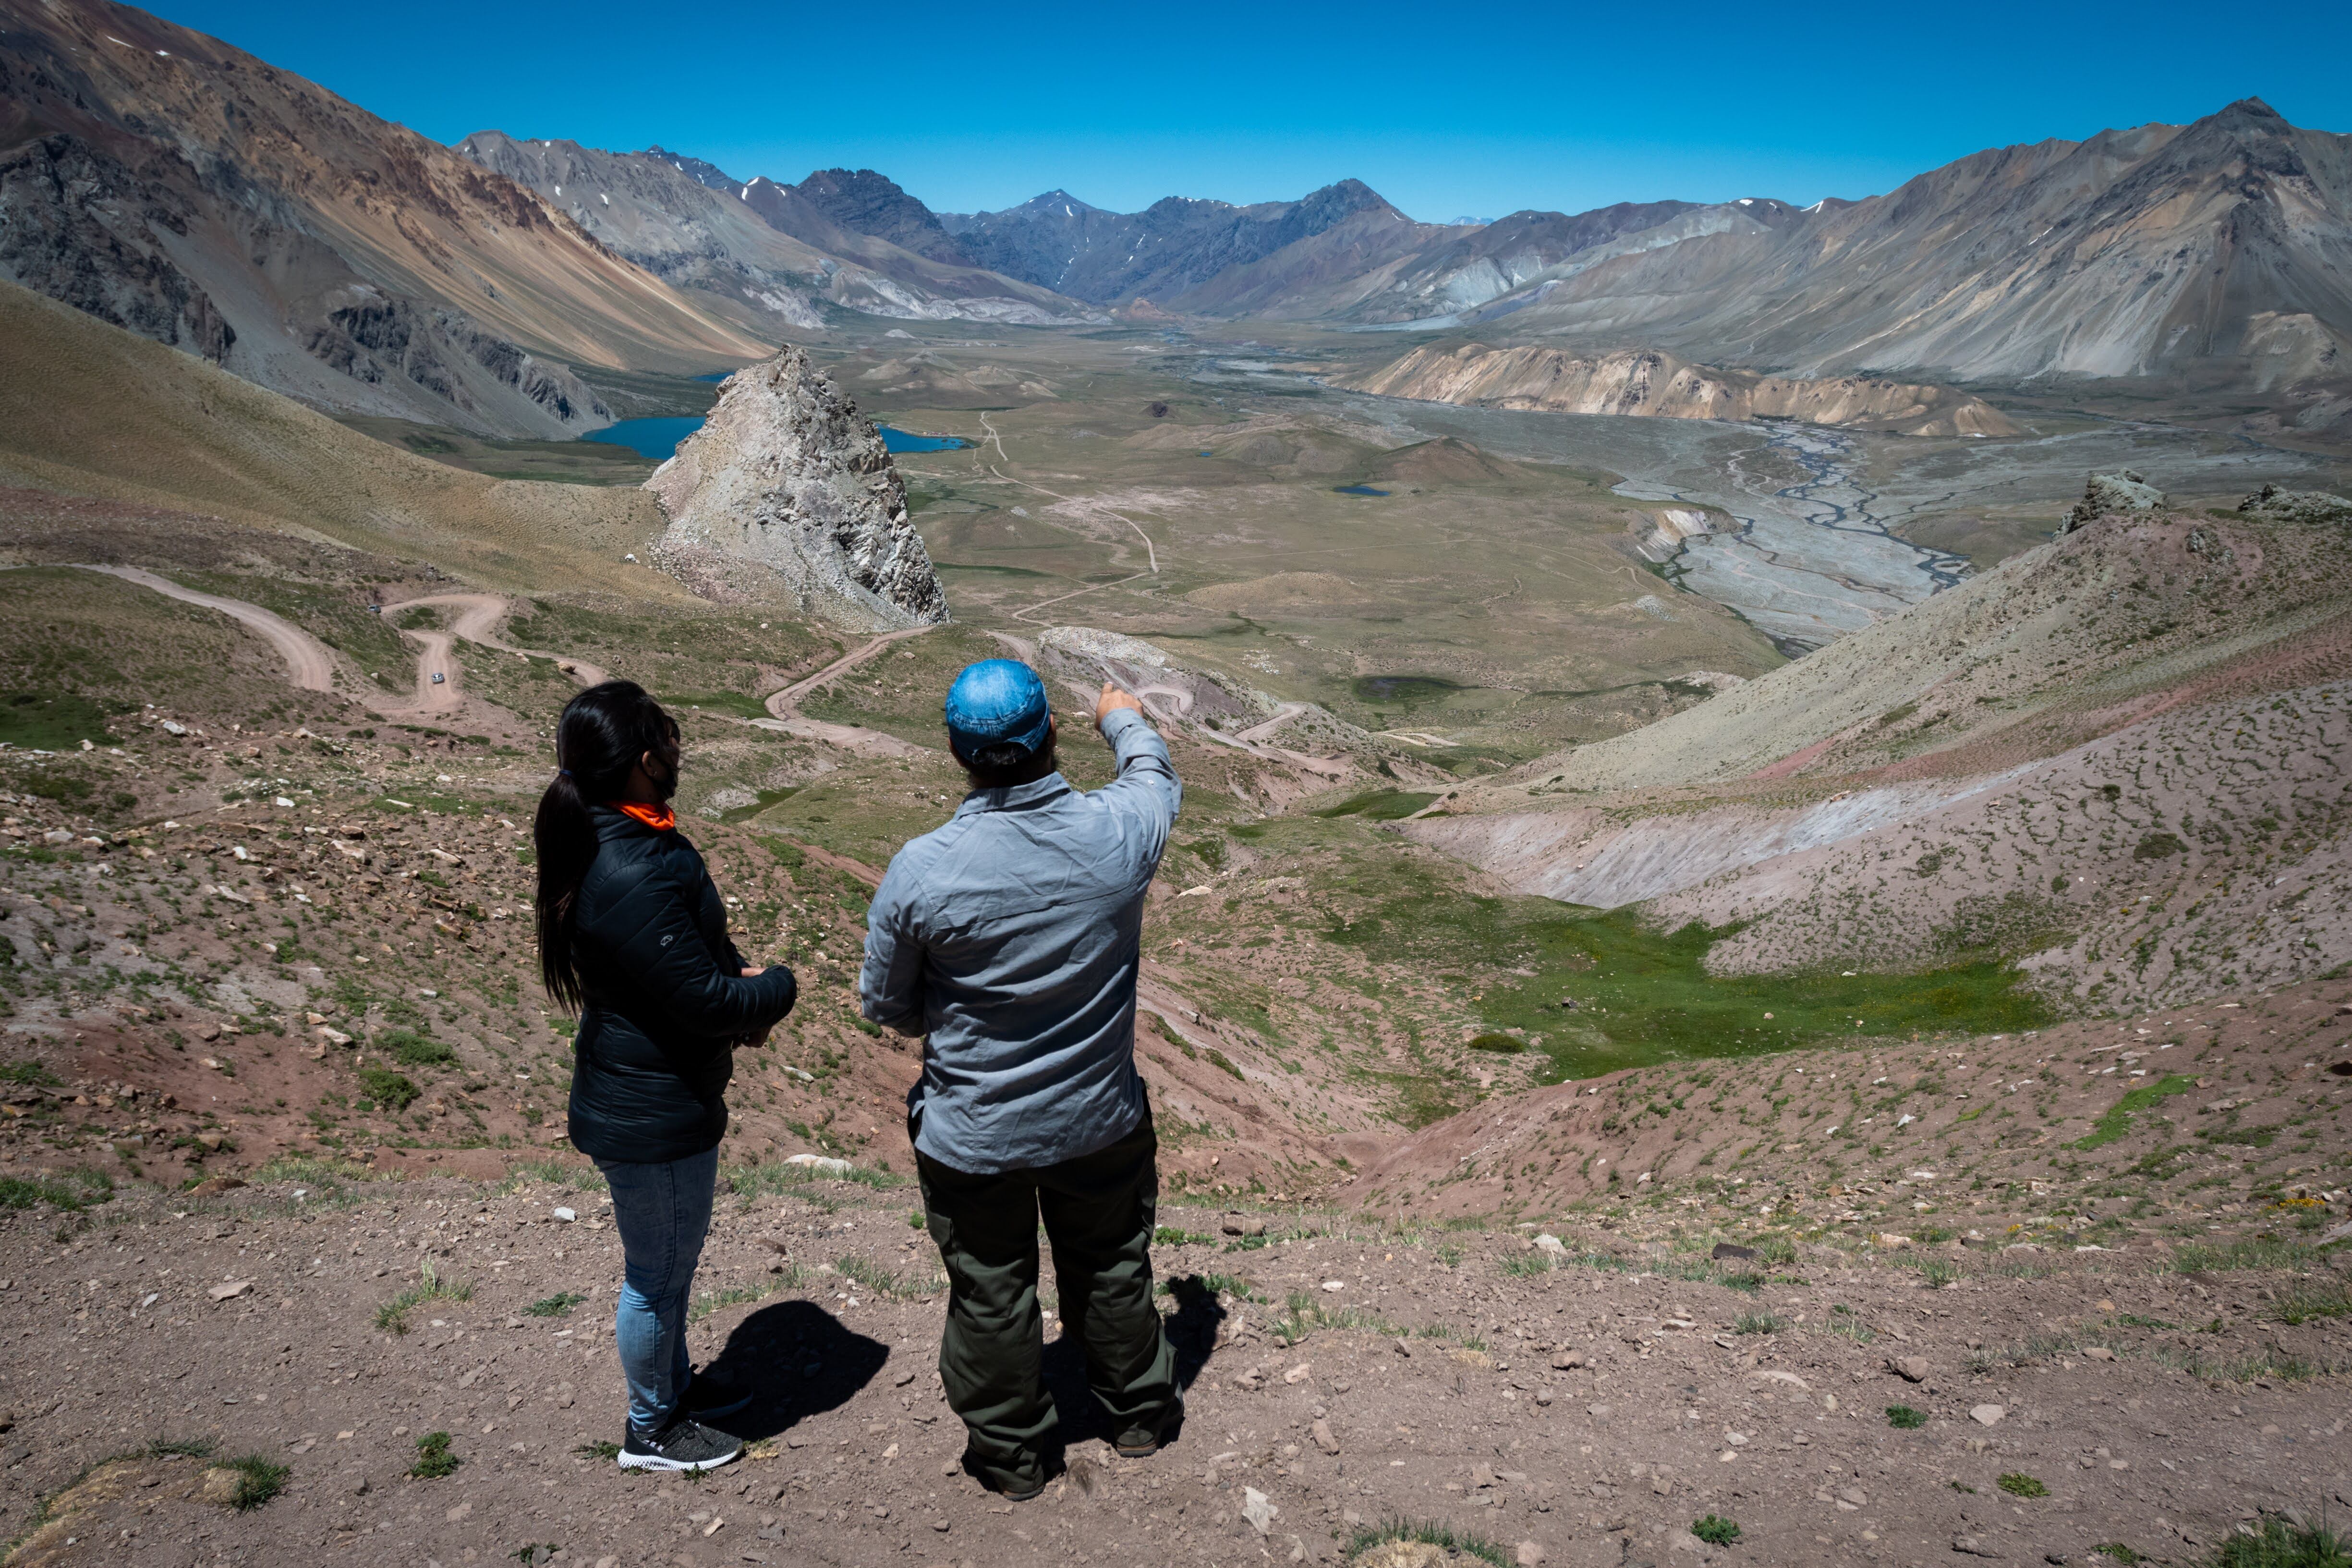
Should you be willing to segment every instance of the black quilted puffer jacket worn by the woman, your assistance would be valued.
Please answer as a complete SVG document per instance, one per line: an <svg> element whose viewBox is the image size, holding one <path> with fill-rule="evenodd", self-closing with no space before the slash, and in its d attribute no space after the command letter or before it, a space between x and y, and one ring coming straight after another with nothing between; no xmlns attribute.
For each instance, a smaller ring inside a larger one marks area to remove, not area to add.
<svg viewBox="0 0 2352 1568"><path fill-rule="evenodd" d="M581 882L581 1032L572 1147L590 1159L666 1161L727 1133L734 1041L793 1011L793 971L746 980L727 905L682 832L612 806L590 811L595 863Z"/></svg>

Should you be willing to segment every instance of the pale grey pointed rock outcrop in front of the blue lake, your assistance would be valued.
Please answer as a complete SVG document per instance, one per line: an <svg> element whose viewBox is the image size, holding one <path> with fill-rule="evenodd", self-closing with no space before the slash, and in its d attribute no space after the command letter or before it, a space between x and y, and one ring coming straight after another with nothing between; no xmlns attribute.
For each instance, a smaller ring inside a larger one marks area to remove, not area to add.
<svg viewBox="0 0 2352 1568"><path fill-rule="evenodd" d="M882 435L797 348L729 376L644 487L670 517L654 559L706 599L858 628L948 618Z"/></svg>

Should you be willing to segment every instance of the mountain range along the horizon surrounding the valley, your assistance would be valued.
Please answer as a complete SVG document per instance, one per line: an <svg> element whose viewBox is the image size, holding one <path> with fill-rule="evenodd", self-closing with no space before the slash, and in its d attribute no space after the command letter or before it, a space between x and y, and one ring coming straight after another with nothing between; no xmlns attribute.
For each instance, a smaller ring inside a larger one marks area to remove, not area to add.
<svg viewBox="0 0 2352 1568"><path fill-rule="evenodd" d="M1122 214L1049 190L953 214L873 169L786 183L503 132L447 148L132 7L0 0L0 277L313 407L487 435L607 423L597 369L708 374L858 317L1112 313L1802 378L2154 378L2265 393L2305 425L2352 409L2352 136L2260 99L1811 207L1418 223L1343 179L1296 202Z"/></svg>

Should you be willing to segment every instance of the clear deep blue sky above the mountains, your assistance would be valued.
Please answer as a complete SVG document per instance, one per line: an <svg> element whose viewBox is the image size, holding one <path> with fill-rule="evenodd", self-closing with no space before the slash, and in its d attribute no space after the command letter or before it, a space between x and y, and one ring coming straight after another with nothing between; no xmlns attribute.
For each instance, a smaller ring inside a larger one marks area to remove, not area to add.
<svg viewBox="0 0 2352 1568"><path fill-rule="evenodd" d="M1985 146L2263 96L2352 132L2352 5L703 5L165 0L437 141L736 176L882 169L936 209L1294 197L1416 219L1870 195ZM2244 24L2239 21L2244 19Z"/></svg>

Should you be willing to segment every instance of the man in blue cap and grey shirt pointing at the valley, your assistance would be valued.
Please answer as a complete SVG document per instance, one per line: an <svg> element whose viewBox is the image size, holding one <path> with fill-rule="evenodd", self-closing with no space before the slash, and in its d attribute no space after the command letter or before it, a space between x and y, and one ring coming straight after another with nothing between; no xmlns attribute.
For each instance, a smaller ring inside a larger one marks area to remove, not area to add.
<svg viewBox="0 0 2352 1568"><path fill-rule="evenodd" d="M1152 1453L1183 1413L1152 1305L1160 1145L1134 1063L1143 891L1183 788L1136 698L1103 686L1094 724L1120 776L1087 795L1056 771L1035 670L988 658L955 677L948 748L971 795L891 858L858 987L870 1020L927 1037L908 1133L948 1265L938 1375L967 1465L1014 1500L1044 1488L1054 1436L1040 1215L1117 1450Z"/></svg>

